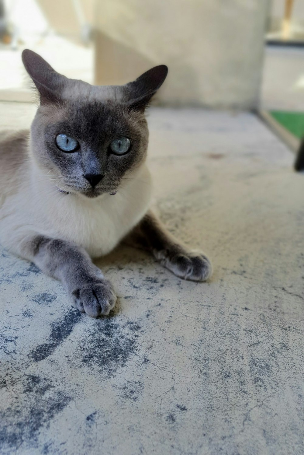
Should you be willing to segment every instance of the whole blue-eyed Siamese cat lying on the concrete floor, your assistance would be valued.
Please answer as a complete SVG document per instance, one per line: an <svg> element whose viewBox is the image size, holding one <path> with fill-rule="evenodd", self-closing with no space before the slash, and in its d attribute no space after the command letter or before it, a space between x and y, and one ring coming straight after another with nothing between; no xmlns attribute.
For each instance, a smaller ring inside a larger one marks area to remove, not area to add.
<svg viewBox="0 0 304 455"><path fill-rule="evenodd" d="M122 240L180 278L209 278L209 259L181 245L149 209L145 108L167 66L123 86L92 86L57 73L33 51L23 51L22 61L40 105L30 131L1 138L0 243L59 279L75 307L93 317L108 314L116 296L91 258Z"/></svg>

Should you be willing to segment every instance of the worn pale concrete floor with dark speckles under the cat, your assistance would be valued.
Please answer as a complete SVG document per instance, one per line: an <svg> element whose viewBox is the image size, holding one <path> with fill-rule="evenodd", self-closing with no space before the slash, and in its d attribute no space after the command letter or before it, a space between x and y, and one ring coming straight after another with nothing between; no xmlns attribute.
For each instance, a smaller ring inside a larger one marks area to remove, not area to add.
<svg viewBox="0 0 304 455"><path fill-rule="evenodd" d="M2 106L1 126L29 111ZM251 114L149 122L156 205L214 276L123 248L100 260L120 298L95 320L2 251L0 453L303 454L304 175Z"/></svg>

